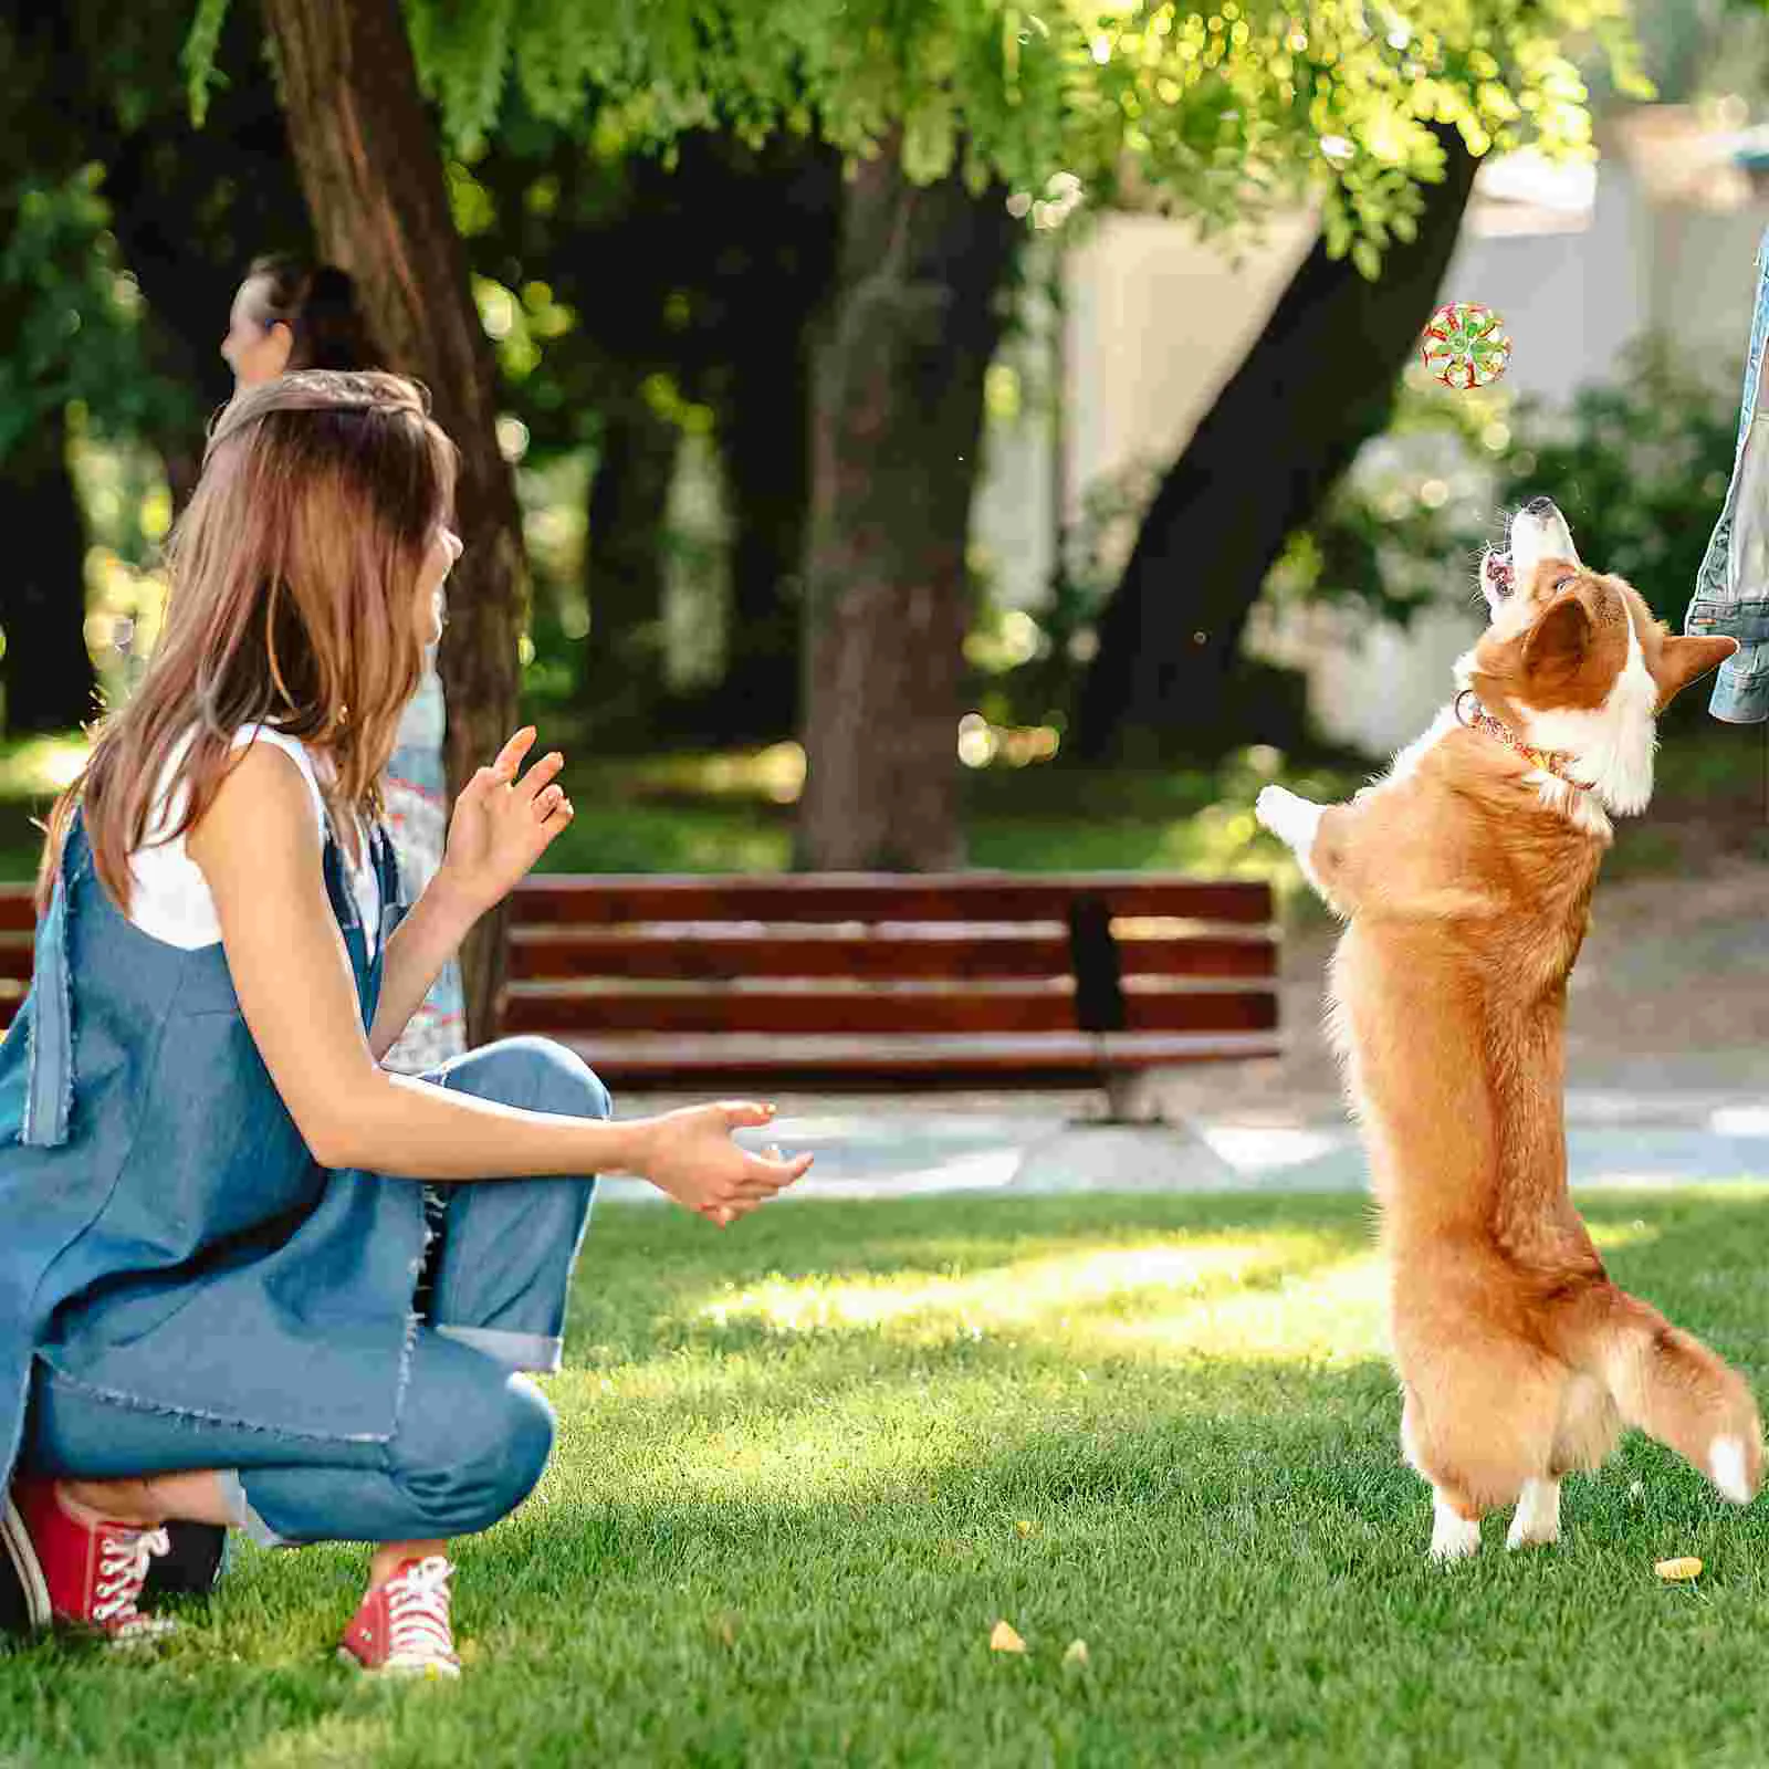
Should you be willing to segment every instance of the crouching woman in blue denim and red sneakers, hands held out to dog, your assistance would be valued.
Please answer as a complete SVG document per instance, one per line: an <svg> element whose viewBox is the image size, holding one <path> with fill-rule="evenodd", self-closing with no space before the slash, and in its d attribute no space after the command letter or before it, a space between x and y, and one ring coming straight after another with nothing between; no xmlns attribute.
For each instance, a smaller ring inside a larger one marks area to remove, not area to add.
<svg viewBox="0 0 1769 1769"><path fill-rule="evenodd" d="M375 780L440 630L451 490L410 382L239 394L152 665L55 808L0 1044L0 1523L37 1626L150 1638L161 1525L237 1525L375 1544L343 1652L455 1675L446 1537L547 1463L517 1371L557 1367L589 1175L727 1224L808 1166L731 1141L764 1106L612 1123L538 1038L380 1067L571 819L522 731L400 904Z"/></svg>

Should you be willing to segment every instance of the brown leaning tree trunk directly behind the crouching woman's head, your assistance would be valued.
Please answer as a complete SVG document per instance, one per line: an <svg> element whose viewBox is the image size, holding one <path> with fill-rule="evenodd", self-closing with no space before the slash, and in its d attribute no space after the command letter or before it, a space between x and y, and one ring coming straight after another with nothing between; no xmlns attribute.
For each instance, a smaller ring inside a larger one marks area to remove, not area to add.
<svg viewBox="0 0 1769 1769"><path fill-rule="evenodd" d="M460 448L467 552L449 580L442 640L448 773L455 789L492 759L517 718L525 559L515 481L497 448L497 375L449 214L435 127L398 0L265 0L288 138L325 258L357 281L393 368L430 387ZM497 1024L504 915L462 950L467 1037Z"/></svg>

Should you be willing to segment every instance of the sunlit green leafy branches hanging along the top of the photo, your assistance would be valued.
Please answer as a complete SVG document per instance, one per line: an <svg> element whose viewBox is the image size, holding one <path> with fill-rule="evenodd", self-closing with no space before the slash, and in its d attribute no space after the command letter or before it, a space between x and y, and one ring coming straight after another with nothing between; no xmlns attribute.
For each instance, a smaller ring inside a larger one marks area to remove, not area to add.
<svg viewBox="0 0 1769 1769"><path fill-rule="evenodd" d="M207 0L214 7L218 0ZM701 127L817 133L851 156L900 142L911 179L953 166L1037 200L1123 179L1206 226L1304 196L1336 255L1375 274L1442 175L1431 124L1472 154L1589 152L1569 51L1640 90L1627 0L407 0L417 62L458 145L515 83L534 115L593 119L609 147ZM1037 211L1033 211L1038 219Z"/></svg>

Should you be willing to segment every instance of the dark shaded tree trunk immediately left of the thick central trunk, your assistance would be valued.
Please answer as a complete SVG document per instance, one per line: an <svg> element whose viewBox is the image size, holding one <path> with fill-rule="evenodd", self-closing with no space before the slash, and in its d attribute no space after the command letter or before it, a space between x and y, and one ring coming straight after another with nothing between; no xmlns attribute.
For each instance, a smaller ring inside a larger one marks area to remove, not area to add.
<svg viewBox="0 0 1769 1769"><path fill-rule="evenodd" d="M798 729L805 520L810 508L810 363L805 315L743 340L718 444L731 486L731 644L720 731L775 739Z"/></svg>

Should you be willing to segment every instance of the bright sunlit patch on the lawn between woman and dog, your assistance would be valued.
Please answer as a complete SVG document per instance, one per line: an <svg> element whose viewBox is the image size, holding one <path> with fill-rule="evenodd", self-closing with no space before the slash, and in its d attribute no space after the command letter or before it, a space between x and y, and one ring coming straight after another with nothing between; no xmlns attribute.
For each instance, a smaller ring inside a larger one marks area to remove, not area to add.
<svg viewBox="0 0 1769 1769"><path fill-rule="evenodd" d="M594 1413L598 1435L628 1445L626 1502L743 1511L877 1502L1053 1433L1084 1442L1102 1385L1162 1366L1162 1417L1206 1392L1214 1419L1231 1415L1240 1399L1206 1383L1206 1353L1274 1373L1380 1355L1380 1268L1343 1233L1100 1229L982 1263L771 1270L690 1293L665 1329L686 1343L568 1366L548 1394L564 1421ZM1270 1380L1249 1371L1254 1412ZM561 1461L575 1461L570 1445ZM564 1497L552 1481L548 1495Z"/></svg>

